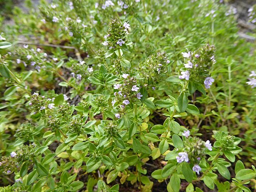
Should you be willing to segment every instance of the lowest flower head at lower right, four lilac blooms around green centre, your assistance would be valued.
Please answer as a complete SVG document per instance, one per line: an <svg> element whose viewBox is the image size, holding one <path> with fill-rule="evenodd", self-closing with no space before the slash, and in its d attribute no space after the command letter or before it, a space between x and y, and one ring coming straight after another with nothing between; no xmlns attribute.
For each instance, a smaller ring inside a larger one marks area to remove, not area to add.
<svg viewBox="0 0 256 192"><path fill-rule="evenodd" d="M192 163L192 170L199 174L201 167L198 164L201 158L205 156L205 151L212 150L211 143L209 140L204 142L198 137L190 137L189 130L185 130L182 135L185 136L186 139L184 139L184 148L181 152L178 152L178 156L176 156L177 162L185 161Z"/></svg>

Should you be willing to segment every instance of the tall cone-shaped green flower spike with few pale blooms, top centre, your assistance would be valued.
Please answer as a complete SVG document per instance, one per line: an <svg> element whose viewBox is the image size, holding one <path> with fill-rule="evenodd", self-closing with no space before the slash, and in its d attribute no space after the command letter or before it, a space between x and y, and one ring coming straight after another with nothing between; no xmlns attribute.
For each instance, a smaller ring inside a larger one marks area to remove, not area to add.
<svg viewBox="0 0 256 192"><path fill-rule="evenodd" d="M125 34L130 25L128 22L122 24L118 18L112 19L108 26L108 34L106 41L102 44L108 46L112 49L121 48L127 41L125 39Z"/></svg>

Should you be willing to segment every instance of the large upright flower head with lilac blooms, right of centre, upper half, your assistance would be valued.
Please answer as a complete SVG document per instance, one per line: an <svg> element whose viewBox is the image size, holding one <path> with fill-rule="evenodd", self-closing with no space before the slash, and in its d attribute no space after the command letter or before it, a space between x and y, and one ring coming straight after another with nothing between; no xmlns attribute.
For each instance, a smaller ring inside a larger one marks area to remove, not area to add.
<svg viewBox="0 0 256 192"><path fill-rule="evenodd" d="M212 64L216 62L214 52L215 47L209 44L194 52L188 49L187 52L182 52L184 67L180 69L179 79L191 80L201 84L203 82L205 88L210 88L210 85L214 82L209 70Z"/></svg>

